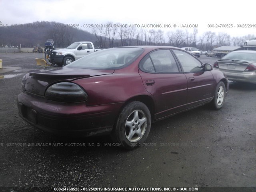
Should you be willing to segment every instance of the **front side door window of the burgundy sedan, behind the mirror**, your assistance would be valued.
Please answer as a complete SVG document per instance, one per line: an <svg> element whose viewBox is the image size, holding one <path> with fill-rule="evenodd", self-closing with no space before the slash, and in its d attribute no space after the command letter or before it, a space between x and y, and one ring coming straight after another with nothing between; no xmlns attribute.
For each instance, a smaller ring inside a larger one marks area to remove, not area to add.
<svg viewBox="0 0 256 192"><path fill-rule="evenodd" d="M185 73L203 71L203 66L194 56L180 50L173 50Z"/></svg>

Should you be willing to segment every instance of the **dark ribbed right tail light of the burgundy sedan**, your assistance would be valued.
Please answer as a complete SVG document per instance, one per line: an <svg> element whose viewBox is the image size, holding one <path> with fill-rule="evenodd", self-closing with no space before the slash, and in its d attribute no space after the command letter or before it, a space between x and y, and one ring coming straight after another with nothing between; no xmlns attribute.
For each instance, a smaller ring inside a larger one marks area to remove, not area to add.
<svg viewBox="0 0 256 192"><path fill-rule="evenodd" d="M46 90L45 98L58 102L82 102L87 100L88 95L77 84L61 82L50 86Z"/></svg>

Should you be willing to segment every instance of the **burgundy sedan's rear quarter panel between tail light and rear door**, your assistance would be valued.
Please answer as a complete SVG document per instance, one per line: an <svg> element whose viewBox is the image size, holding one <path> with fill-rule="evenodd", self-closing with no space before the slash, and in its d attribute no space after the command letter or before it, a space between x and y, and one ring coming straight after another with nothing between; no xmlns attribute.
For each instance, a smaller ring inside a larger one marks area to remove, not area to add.
<svg viewBox="0 0 256 192"><path fill-rule="evenodd" d="M150 95L145 90L138 71L94 76L73 82L82 86L88 94L88 106L126 102L134 96Z"/></svg>

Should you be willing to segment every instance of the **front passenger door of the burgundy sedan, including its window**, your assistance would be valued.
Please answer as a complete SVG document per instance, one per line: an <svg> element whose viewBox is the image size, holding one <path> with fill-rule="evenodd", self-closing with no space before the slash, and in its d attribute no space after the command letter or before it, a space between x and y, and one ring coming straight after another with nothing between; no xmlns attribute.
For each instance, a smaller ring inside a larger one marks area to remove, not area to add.
<svg viewBox="0 0 256 192"><path fill-rule="evenodd" d="M202 63L194 56L173 49L182 71L188 81L188 96L186 108L191 108L212 99L214 80L210 71L204 71Z"/></svg>

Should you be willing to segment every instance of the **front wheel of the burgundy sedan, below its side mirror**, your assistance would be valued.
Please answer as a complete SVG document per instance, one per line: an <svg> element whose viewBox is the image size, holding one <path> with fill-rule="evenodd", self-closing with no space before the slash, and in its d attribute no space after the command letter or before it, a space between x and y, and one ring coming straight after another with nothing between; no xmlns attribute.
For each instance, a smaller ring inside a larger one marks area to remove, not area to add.
<svg viewBox="0 0 256 192"><path fill-rule="evenodd" d="M225 102L226 98L226 87L224 82L219 82L216 86L214 99L212 101L212 106L216 110L220 110Z"/></svg>

